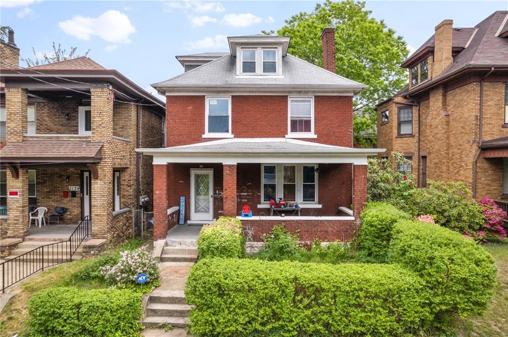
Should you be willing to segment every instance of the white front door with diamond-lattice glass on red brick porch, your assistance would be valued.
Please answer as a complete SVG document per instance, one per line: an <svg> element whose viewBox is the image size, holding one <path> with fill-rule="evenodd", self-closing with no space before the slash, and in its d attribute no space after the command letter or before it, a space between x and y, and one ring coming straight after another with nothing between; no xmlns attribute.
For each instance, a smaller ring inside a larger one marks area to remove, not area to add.
<svg viewBox="0 0 508 337"><path fill-rule="evenodd" d="M213 219L213 170L190 170L190 220Z"/></svg>

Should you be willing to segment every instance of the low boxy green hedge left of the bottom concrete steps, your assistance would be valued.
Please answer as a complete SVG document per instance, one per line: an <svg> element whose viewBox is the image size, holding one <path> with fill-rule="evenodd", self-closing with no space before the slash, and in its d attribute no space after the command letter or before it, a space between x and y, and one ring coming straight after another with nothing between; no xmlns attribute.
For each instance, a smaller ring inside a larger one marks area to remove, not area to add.
<svg viewBox="0 0 508 337"><path fill-rule="evenodd" d="M141 294L123 289L44 289L31 297L30 336L138 336Z"/></svg>

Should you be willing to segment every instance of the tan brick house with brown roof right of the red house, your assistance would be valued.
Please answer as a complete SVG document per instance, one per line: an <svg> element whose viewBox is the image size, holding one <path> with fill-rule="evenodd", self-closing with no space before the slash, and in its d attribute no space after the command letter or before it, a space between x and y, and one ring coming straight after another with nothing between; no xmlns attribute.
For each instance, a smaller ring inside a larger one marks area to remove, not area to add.
<svg viewBox="0 0 508 337"><path fill-rule="evenodd" d="M409 85L377 106L381 156L404 153L419 186L462 181L475 198L508 197L508 11L471 28L442 21L401 66Z"/></svg>

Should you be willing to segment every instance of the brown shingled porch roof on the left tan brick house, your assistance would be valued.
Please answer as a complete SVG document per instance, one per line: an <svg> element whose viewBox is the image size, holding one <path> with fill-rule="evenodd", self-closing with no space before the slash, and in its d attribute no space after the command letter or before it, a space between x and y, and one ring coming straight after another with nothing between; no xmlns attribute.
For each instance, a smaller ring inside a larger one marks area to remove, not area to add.
<svg viewBox="0 0 508 337"><path fill-rule="evenodd" d="M102 159L103 143L78 140L26 140L0 149L6 163L95 163Z"/></svg>

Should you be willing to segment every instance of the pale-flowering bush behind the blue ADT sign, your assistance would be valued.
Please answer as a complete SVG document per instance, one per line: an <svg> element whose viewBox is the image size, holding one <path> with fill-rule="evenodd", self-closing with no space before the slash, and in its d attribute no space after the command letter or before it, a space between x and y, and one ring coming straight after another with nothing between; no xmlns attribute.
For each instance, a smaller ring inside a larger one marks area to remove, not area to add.
<svg viewBox="0 0 508 337"><path fill-rule="evenodd" d="M101 272L106 282L115 287L136 285L136 277L139 274L146 274L145 284L150 284L150 287L158 285L158 261L143 248L120 252L118 263L114 266L101 267Z"/></svg>

